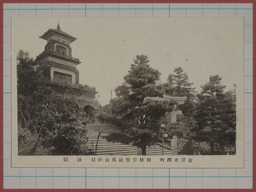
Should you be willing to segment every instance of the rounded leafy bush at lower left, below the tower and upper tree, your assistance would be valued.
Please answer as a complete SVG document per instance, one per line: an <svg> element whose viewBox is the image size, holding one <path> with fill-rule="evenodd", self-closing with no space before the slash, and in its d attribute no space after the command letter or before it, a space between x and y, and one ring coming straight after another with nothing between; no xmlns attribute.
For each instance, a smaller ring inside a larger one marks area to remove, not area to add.
<svg viewBox="0 0 256 192"><path fill-rule="evenodd" d="M40 100L33 96L32 102L23 98L19 110L19 154L87 154L87 130L79 122L76 103L55 94Z"/></svg>

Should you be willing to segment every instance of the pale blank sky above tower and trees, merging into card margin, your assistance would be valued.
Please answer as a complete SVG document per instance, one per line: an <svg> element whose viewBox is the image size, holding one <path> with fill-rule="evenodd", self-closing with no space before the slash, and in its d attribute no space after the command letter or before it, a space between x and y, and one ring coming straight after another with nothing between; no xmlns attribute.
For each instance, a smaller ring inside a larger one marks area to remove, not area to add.
<svg viewBox="0 0 256 192"><path fill-rule="evenodd" d="M148 55L163 83L182 67L196 91L216 74L226 90L243 89L242 18L13 18L13 58L23 49L35 59L46 44L39 37L58 22L77 38L70 46L81 61L79 83L96 87L102 106L136 55Z"/></svg>

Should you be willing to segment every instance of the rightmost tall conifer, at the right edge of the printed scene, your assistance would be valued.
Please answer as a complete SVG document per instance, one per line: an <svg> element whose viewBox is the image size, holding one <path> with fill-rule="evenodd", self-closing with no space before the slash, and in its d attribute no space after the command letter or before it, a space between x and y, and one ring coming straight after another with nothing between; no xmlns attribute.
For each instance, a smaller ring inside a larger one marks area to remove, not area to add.
<svg viewBox="0 0 256 192"><path fill-rule="evenodd" d="M209 80L197 95L199 104L194 139L209 143L210 154L224 154L225 145L236 142L236 97L234 93L224 93L225 86L220 83L218 75Z"/></svg>

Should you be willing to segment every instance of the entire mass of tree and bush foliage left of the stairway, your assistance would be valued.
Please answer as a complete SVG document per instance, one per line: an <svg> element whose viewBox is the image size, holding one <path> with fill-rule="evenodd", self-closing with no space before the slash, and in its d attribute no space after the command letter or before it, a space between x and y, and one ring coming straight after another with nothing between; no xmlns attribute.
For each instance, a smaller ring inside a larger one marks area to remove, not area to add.
<svg viewBox="0 0 256 192"><path fill-rule="evenodd" d="M86 154L77 104L51 88L47 67L27 52L20 50L17 60L19 154Z"/></svg>

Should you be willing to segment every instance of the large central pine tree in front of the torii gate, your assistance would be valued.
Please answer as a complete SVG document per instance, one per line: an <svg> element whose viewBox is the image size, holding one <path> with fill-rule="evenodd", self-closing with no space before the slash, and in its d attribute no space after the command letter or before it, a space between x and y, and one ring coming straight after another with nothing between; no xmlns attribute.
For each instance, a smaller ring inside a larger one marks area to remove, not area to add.
<svg viewBox="0 0 256 192"><path fill-rule="evenodd" d="M146 147L158 140L161 116L172 109L172 103L147 100L147 97L162 97L162 91L155 84L160 79L160 72L148 64L147 55L137 55L131 69L125 75L125 83L115 89L118 98L113 99L113 113L116 113L130 129L123 134L113 134L108 140L133 143L142 148L143 155ZM114 108L116 107L116 108Z"/></svg>

